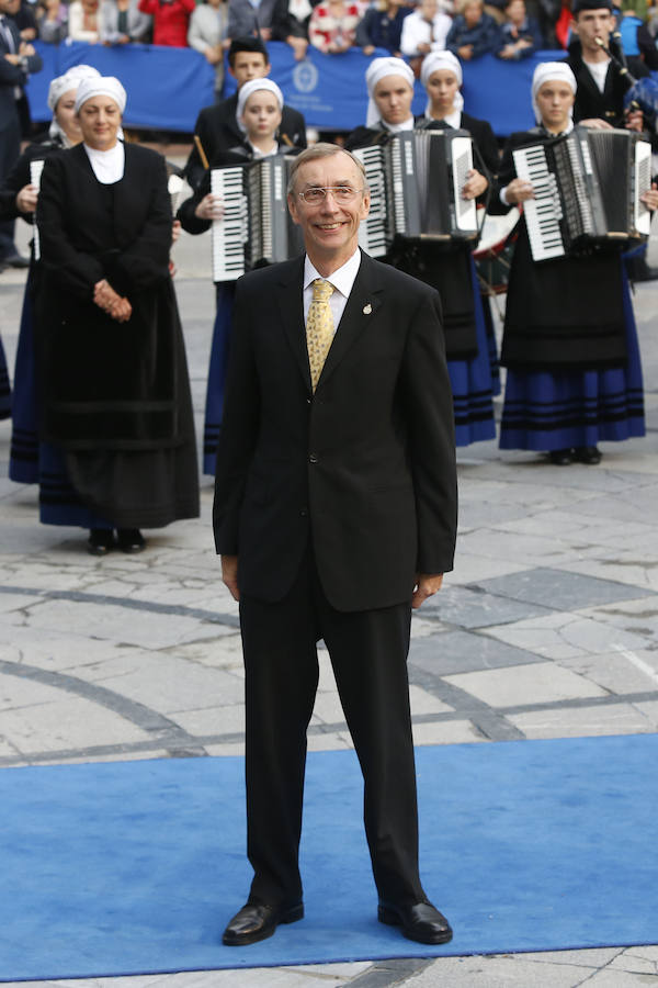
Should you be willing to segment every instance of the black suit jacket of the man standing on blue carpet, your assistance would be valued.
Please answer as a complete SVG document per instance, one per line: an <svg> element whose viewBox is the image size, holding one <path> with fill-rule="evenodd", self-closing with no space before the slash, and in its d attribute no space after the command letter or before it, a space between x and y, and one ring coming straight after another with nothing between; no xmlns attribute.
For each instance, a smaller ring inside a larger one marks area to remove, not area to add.
<svg viewBox="0 0 658 988"><path fill-rule="evenodd" d="M240 279L217 452L217 551L282 599L309 538L339 610L409 600L452 569L453 408L438 293L362 255L315 395L304 260Z"/></svg>

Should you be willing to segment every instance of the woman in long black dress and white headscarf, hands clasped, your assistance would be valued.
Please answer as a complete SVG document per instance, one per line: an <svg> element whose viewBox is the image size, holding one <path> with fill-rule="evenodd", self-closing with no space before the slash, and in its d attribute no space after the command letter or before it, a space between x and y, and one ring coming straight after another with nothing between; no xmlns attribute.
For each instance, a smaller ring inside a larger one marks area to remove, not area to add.
<svg viewBox="0 0 658 988"><path fill-rule="evenodd" d="M36 209L41 436L77 494L59 524L89 528L94 555L198 516L167 167L120 139L125 102L113 77L80 82L82 143L46 161Z"/></svg>

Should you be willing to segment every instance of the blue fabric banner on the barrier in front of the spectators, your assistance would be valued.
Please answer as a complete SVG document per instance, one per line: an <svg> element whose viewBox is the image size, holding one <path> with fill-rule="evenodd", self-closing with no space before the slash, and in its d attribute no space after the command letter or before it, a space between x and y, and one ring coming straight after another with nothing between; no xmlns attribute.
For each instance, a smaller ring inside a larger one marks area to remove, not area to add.
<svg viewBox="0 0 658 988"><path fill-rule="evenodd" d="M30 79L27 93L32 116L46 121L48 85L72 65L87 63L107 76L116 76L125 86L128 103L124 122L128 127L160 131L194 130L198 111L214 101L214 69L192 48L156 45L104 47L82 42L46 45L37 43L44 68ZM365 70L371 61L359 48L342 55L322 55L309 47L304 61L295 61L292 48L274 42L268 46L272 60L271 78L281 86L285 101L299 110L309 127L320 131L351 131L365 122L367 93ZM377 54L377 53L375 53ZM385 53L378 53L385 54ZM508 63L492 55L464 65L464 102L472 116L488 120L496 134L507 137L513 131L534 125L530 86L540 61L564 58L564 52L536 52L530 58ZM227 72L226 96L235 91ZM427 97L416 83L413 112L424 111Z"/></svg>

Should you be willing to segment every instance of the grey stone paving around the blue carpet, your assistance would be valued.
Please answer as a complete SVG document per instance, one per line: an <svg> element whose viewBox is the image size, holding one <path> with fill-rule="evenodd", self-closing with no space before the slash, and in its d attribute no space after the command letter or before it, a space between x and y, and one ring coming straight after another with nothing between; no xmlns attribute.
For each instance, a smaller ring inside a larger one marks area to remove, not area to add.
<svg viewBox="0 0 658 988"><path fill-rule="evenodd" d="M208 250L207 237L175 248L200 426ZM23 284L22 272L0 277L12 362ZM461 451L455 571L413 620L418 744L658 729L657 301L658 283L637 289L645 439L603 444L600 467L553 467L494 442ZM0 767L240 753L238 620L212 546L211 481L201 521L148 532L141 555L99 560L83 532L39 526L36 491L7 480L9 438L0 423ZM326 654L309 740L350 744ZM658 946L48 984L625 988L658 986Z"/></svg>

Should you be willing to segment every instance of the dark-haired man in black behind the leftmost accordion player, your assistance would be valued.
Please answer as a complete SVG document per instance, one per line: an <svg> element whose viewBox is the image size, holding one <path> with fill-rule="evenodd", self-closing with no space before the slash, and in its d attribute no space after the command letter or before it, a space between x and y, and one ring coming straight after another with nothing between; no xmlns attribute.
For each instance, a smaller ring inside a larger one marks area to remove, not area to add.
<svg viewBox="0 0 658 988"><path fill-rule="evenodd" d="M270 56L260 37L237 37L228 49L228 70L238 83L238 90L250 79L262 79L270 75ZM194 124L194 136L198 137L209 165L223 151L241 144L245 134L238 126L236 110L238 93L227 100L205 106ZM306 123L298 110L284 105L281 116L280 141L291 147L306 147ZM194 191L201 184L205 165L196 144L185 165L185 178Z"/></svg>

